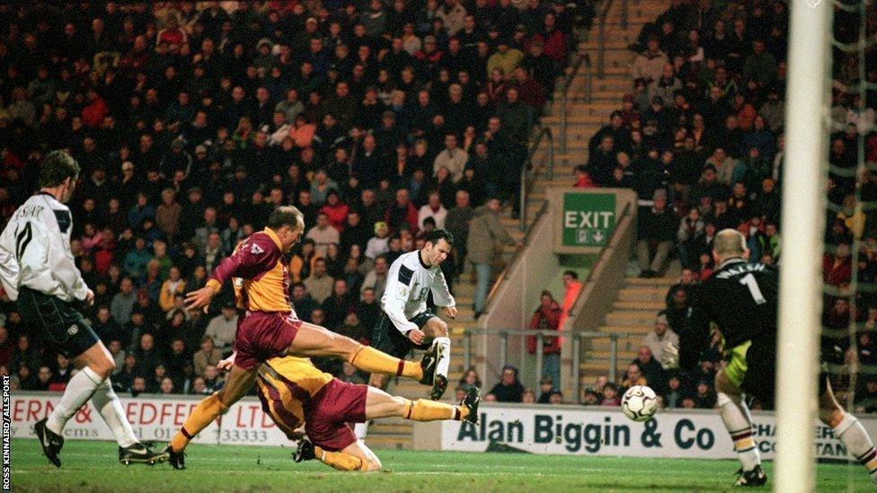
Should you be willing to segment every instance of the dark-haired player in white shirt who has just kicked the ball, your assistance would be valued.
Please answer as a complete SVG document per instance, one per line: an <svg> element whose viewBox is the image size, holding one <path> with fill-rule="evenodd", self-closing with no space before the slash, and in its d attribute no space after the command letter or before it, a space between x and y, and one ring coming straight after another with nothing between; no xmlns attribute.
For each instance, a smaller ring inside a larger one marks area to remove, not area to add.
<svg viewBox="0 0 877 493"><path fill-rule="evenodd" d="M421 250L411 251L394 260L386 275L386 287L381 297L384 313L377 322L372 336L372 347L394 357L405 357L413 348L436 347L438 364L434 375L423 375L425 383L432 379L430 398L438 401L447 390L447 369L450 365L451 341L447 337L447 323L430 312L427 298L432 292L437 306L445 308L450 318L456 318L456 302L450 294L445 275L440 269L454 246L454 236L446 230L433 230L426 235ZM389 378L372 374L368 384L385 389ZM368 423L358 423L356 433L364 438Z"/></svg>

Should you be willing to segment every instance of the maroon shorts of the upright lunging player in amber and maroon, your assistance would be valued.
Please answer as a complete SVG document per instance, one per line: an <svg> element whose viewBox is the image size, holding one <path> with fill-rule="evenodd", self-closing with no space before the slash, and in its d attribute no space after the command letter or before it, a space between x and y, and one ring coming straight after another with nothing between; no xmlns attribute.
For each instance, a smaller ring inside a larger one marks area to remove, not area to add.
<svg viewBox="0 0 877 493"><path fill-rule="evenodd" d="M290 313L246 312L237 319L235 365L252 370L272 357L286 355L301 324Z"/></svg>

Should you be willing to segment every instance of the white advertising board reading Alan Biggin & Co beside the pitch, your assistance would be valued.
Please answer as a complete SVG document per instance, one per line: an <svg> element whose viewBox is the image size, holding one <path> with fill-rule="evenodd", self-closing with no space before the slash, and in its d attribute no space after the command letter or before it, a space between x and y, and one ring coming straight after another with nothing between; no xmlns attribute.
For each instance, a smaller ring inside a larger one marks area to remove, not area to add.
<svg viewBox="0 0 877 493"><path fill-rule="evenodd" d="M731 437L713 410L674 409L645 423L626 418L620 408L491 405L483 403L481 423L415 423L415 450L523 452L679 459L735 459ZM762 458L775 453L776 418L755 411L755 439ZM877 418L859 417L869 433ZM846 459L846 448L831 427L815 422L814 453L819 459Z"/></svg>

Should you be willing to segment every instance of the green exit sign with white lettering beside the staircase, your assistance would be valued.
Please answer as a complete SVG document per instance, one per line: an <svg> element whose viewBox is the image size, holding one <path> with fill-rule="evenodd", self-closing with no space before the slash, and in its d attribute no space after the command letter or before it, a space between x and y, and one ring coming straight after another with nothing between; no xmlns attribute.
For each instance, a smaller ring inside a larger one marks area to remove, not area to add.
<svg viewBox="0 0 877 493"><path fill-rule="evenodd" d="M563 246L605 246L615 227L614 193L563 194Z"/></svg>

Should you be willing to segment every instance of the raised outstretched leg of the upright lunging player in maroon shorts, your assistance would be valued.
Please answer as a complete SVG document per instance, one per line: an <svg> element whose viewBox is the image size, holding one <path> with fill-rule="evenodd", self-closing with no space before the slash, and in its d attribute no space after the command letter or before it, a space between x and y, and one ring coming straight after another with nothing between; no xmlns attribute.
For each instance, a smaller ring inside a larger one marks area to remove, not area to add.
<svg viewBox="0 0 877 493"><path fill-rule="evenodd" d="M288 354L300 357L342 357L364 372L395 374L415 380L421 380L425 373L423 362L414 363L391 357L375 348L363 346L353 339L307 322L303 322L298 328Z"/></svg>

